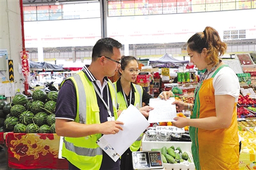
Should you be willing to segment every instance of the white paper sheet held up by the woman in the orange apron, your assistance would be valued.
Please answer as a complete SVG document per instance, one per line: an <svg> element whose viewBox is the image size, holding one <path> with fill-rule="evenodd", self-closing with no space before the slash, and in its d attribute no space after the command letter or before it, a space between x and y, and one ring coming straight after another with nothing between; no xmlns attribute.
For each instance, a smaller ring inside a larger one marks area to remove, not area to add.
<svg viewBox="0 0 256 170"><path fill-rule="evenodd" d="M158 122L174 122L174 117L177 117L176 105L172 105L175 98L163 99L150 99L150 106L154 109L148 115L149 123Z"/></svg>

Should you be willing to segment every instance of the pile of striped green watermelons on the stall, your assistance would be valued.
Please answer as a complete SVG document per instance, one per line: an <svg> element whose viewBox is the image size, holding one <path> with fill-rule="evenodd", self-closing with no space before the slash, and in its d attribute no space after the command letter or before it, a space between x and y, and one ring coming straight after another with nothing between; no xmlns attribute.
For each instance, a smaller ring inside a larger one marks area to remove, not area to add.
<svg viewBox="0 0 256 170"><path fill-rule="evenodd" d="M4 128L14 133L55 133L55 107L58 92L48 94L34 90L32 99L16 94L11 103L6 103ZM0 119L1 121L1 119ZM0 122L1 123L1 122Z"/></svg>

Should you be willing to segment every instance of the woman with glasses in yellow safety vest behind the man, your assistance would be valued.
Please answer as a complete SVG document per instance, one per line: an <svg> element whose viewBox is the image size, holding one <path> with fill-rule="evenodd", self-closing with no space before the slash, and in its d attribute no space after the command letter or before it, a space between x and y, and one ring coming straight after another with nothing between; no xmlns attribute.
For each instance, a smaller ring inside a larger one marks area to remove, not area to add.
<svg viewBox="0 0 256 170"><path fill-rule="evenodd" d="M117 91L117 101L119 110L125 110L132 104L138 108L145 117L148 117L148 111L153 108L147 105L153 96L148 94L140 85L134 84L139 72L138 60L135 57L122 56L121 66L119 68L120 78L114 83ZM121 170L133 169L132 152L140 150L141 139L142 134L121 156Z"/></svg>

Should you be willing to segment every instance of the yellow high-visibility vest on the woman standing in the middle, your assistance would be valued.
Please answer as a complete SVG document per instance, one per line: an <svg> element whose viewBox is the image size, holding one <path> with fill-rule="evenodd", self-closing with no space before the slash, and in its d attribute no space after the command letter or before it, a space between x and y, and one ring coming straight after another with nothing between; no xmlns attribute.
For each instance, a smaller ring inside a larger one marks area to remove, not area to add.
<svg viewBox="0 0 256 170"><path fill-rule="evenodd" d="M115 85L115 89L117 89L117 86L116 86L116 82L113 83ZM135 88L135 102L134 102L134 106L138 106L138 109L142 107L142 92L143 92L143 89L140 85L137 85L137 84L133 84L132 85L134 86ZM119 107L118 107L118 110L125 110L127 109L126 107L126 103L125 103L125 100L124 98L126 98L125 96L123 96L123 93L122 91L119 91L117 92L117 102L119 104ZM130 150L132 152L135 152L135 151L138 151L139 148L140 148L140 145L141 145L141 140L142 140L142 135L143 133L138 137L138 139L136 139L136 141L130 146Z"/></svg>

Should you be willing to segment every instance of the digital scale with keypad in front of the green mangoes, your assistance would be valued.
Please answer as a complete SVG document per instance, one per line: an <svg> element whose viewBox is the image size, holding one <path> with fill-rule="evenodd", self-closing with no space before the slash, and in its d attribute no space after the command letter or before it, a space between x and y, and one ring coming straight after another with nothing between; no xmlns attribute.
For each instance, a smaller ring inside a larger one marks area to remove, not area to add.
<svg viewBox="0 0 256 170"><path fill-rule="evenodd" d="M160 151L138 151L132 153L133 169L163 169Z"/></svg>

